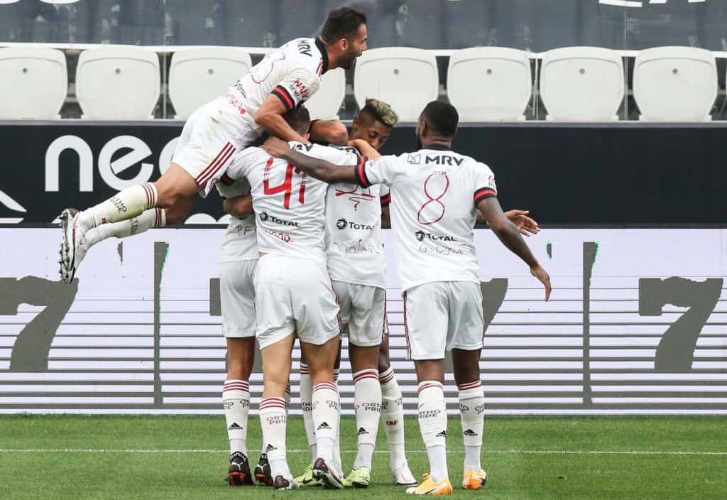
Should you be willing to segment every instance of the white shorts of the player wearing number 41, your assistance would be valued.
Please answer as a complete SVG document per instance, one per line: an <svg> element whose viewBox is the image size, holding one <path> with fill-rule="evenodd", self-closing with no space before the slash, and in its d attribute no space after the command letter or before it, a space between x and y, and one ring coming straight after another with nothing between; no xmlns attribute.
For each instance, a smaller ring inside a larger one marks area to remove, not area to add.
<svg viewBox="0 0 727 500"><path fill-rule="evenodd" d="M341 332L336 294L324 262L267 254L255 271L255 336L260 349L293 333L321 345Z"/></svg>

